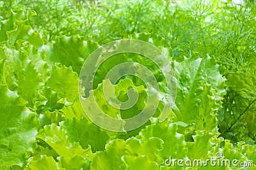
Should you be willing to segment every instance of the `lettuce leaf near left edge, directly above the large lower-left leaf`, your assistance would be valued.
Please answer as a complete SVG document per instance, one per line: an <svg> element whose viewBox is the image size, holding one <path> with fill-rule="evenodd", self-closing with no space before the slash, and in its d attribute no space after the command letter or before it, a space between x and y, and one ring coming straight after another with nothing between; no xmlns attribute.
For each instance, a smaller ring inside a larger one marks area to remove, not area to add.
<svg viewBox="0 0 256 170"><path fill-rule="evenodd" d="M18 94L28 101L27 106L33 108L31 102L36 90L43 85L40 74L28 59L25 52L4 48L6 60L4 62L4 77L10 90L17 90Z"/></svg>

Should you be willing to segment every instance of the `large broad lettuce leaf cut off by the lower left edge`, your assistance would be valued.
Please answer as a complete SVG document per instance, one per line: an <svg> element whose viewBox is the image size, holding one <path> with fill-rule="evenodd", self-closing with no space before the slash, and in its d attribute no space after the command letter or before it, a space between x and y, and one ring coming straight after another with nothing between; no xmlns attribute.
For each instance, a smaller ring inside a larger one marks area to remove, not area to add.
<svg viewBox="0 0 256 170"><path fill-rule="evenodd" d="M24 166L35 152L38 122L26 101L0 85L0 169Z"/></svg>

